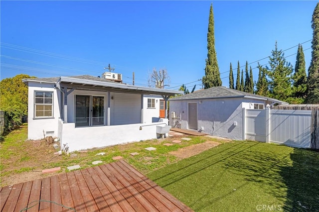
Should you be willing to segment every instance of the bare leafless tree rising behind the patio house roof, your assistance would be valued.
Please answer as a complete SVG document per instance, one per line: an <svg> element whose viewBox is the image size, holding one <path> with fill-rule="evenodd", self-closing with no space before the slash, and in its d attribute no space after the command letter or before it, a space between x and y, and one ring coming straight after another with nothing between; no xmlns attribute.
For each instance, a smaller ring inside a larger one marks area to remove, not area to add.
<svg viewBox="0 0 319 212"><path fill-rule="evenodd" d="M170 77L168 76L166 69L160 69L157 71L156 68L154 68L152 72L149 72L149 87L163 89L165 86L169 86L169 83Z"/></svg>

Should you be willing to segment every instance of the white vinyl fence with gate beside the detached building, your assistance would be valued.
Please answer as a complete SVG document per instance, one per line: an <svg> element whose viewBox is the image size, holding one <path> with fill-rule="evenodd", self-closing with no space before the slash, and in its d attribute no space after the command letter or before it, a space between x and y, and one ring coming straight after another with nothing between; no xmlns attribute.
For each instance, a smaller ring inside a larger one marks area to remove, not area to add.
<svg viewBox="0 0 319 212"><path fill-rule="evenodd" d="M243 108L243 117L247 140L310 148L311 110Z"/></svg>

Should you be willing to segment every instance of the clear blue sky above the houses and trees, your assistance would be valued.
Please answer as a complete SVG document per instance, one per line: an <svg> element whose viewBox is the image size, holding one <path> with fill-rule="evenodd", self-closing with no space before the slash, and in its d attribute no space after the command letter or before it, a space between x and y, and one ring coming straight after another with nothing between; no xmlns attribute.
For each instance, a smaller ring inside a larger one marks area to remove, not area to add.
<svg viewBox="0 0 319 212"><path fill-rule="evenodd" d="M317 1L2 0L0 79L21 73L101 76L111 64L128 84L135 72L135 85L147 86L149 71L165 68L167 89L181 84L200 89L211 3L223 86L229 86L230 62L233 68L237 61L240 66L252 63L257 81L253 62L270 56L276 40L282 50L296 46L284 52L293 66L297 45L305 42L308 70ZM260 63L267 64L268 58Z"/></svg>

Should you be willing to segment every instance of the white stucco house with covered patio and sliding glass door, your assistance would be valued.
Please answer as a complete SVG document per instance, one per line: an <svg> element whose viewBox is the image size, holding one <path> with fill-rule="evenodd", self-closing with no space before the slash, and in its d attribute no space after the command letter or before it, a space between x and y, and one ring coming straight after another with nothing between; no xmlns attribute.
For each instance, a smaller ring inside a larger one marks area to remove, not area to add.
<svg viewBox="0 0 319 212"><path fill-rule="evenodd" d="M159 137L157 126L168 124L168 98L182 93L89 75L23 82L28 86L28 139L58 137L70 152Z"/></svg>

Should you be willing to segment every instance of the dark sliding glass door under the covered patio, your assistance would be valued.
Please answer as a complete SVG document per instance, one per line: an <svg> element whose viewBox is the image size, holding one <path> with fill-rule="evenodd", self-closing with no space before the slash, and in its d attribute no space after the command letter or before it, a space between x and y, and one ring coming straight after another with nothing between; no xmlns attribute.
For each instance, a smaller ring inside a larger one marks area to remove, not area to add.
<svg viewBox="0 0 319 212"><path fill-rule="evenodd" d="M104 125L104 97L75 96L75 126Z"/></svg>

